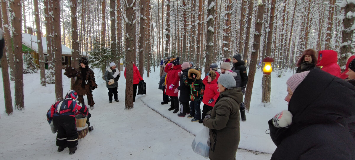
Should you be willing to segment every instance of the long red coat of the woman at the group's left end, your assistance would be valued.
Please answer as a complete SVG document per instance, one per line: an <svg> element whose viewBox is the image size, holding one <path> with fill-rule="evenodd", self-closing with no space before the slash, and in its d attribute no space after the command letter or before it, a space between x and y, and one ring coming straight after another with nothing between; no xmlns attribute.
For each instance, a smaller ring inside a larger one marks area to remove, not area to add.
<svg viewBox="0 0 355 160"><path fill-rule="evenodd" d="M174 93L174 90L179 87L179 72L181 72L181 64L179 65L174 65L174 68L171 68L171 65L165 66L165 72L168 73L166 74L165 78L165 90L164 93L168 96L174 96L177 97L179 96L179 92ZM173 84L174 87L173 89L169 89L169 86Z"/></svg>

